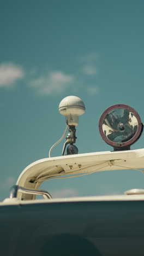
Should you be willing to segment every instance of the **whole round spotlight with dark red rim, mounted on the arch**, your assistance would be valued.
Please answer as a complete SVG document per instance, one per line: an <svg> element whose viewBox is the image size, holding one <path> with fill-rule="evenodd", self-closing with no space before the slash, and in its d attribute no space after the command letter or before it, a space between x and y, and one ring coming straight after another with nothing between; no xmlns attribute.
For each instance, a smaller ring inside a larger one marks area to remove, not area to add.
<svg viewBox="0 0 144 256"><path fill-rule="evenodd" d="M142 129L139 114L124 104L107 108L99 120L100 136L115 150L130 149L130 145L141 136Z"/></svg>

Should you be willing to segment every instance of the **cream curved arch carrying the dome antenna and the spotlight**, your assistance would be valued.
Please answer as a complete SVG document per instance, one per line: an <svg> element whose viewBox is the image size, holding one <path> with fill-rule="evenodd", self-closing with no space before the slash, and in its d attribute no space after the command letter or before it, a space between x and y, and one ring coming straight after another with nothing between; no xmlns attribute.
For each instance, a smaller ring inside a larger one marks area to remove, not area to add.
<svg viewBox="0 0 144 256"><path fill-rule="evenodd" d="M95 152L45 158L33 162L22 171L17 185L38 188L47 179L71 174L143 168L144 149ZM140 170L141 171L141 170ZM29 195L27 195L29 196ZM29 198L31 199L31 198Z"/></svg>

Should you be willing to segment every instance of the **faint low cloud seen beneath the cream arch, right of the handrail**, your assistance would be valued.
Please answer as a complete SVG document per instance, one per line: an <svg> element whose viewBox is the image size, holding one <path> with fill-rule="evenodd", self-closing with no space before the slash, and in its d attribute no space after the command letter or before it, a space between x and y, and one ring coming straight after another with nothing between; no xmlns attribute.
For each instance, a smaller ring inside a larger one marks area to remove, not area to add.
<svg viewBox="0 0 144 256"><path fill-rule="evenodd" d="M53 190L51 191L52 198L59 198L59 197L75 197L78 196L78 191L73 188L65 188L61 190Z"/></svg>

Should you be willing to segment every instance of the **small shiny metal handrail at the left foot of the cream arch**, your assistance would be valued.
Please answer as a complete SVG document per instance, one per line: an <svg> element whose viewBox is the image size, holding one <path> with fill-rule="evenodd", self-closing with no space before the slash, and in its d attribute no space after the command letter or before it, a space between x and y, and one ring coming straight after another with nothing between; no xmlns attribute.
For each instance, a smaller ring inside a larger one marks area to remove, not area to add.
<svg viewBox="0 0 144 256"><path fill-rule="evenodd" d="M51 195L46 190L23 188L23 187L20 187L19 185L14 185L11 188L9 197L10 198L17 197L18 191L25 194L43 195L45 199L52 199Z"/></svg>

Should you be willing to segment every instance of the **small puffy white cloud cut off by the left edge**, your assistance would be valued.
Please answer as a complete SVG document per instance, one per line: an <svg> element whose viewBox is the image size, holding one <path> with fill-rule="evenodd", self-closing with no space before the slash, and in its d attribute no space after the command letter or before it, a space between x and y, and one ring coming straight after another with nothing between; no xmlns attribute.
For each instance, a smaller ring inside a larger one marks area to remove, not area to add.
<svg viewBox="0 0 144 256"><path fill-rule="evenodd" d="M22 67L13 63L2 63L0 65L0 87L13 86L17 79L25 75Z"/></svg>

